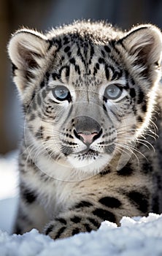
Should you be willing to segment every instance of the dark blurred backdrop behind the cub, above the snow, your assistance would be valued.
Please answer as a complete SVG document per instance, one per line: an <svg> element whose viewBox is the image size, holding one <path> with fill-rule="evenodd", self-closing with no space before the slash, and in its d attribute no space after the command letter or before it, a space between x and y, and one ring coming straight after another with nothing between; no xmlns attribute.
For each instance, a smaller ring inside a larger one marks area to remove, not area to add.
<svg viewBox="0 0 162 256"><path fill-rule="evenodd" d="M0 154L18 148L23 132L18 92L7 57L10 35L22 26L47 31L76 19L108 20L122 29L137 23L162 28L160 0L0 0Z"/></svg>

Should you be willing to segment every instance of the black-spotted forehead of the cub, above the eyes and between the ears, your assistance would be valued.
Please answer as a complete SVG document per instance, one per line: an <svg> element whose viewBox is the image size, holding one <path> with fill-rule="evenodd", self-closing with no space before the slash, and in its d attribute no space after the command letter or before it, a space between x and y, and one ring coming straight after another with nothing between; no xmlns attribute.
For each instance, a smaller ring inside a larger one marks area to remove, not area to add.
<svg viewBox="0 0 162 256"><path fill-rule="evenodd" d="M58 41L53 59L53 79L81 86L99 86L119 78L120 65L109 55L108 42L95 42L89 37L66 35Z"/></svg>

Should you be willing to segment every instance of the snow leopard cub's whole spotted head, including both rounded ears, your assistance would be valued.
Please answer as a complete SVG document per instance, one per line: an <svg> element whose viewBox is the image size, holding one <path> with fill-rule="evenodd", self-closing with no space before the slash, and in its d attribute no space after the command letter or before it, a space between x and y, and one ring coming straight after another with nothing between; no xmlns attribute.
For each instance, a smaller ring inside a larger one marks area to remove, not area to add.
<svg viewBox="0 0 162 256"><path fill-rule="evenodd" d="M95 23L74 27L66 34L20 30L9 54L31 154L96 173L117 155L120 162L121 155L130 157L149 124L160 32L151 26L122 34L110 27L101 34Z"/></svg>

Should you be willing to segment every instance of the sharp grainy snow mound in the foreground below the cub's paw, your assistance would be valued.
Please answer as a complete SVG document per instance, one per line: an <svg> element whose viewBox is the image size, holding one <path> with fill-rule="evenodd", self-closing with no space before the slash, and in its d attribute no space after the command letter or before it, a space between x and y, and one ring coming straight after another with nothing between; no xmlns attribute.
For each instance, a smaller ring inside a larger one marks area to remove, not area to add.
<svg viewBox="0 0 162 256"><path fill-rule="evenodd" d="M121 227L103 222L98 231L80 233L70 238L53 241L37 230L9 236L0 233L2 256L52 255L162 255L162 215L150 214L138 220L123 217Z"/></svg>

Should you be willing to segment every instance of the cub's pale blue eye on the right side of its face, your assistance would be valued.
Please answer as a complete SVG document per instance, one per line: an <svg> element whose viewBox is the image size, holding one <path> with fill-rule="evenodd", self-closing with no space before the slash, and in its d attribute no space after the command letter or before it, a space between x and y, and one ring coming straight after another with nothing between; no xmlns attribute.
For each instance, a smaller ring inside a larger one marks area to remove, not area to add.
<svg viewBox="0 0 162 256"><path fill-rule="evenodd" d="M123 91L123 88L121 88L115 84L110 84L105 89L104 97L107 99L117 99L122 94L122 91Z"/></svg>

